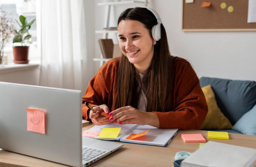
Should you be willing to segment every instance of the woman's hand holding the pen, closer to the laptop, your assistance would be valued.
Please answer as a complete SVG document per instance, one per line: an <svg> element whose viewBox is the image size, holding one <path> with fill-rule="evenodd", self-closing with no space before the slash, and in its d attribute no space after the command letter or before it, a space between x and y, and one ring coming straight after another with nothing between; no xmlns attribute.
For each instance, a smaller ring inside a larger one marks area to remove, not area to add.
<svg viewBox="0 0 256 167"><path fill-rule="evenodd" d="M107 114L109 113L109 109L105 104L95 106L93 109L96 111L96 113L93 113L91 110L89 113L89 118L95 125L104 125L112 122L106 116L101 115L101 112L105 112Z"/></svg>

